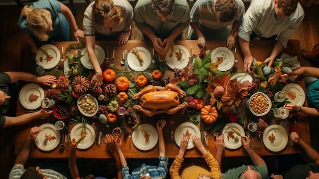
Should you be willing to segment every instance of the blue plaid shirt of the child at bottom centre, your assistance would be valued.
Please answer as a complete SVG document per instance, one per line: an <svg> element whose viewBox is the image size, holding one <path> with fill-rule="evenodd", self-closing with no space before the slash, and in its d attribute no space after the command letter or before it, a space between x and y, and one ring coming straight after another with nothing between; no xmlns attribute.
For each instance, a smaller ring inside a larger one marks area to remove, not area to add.
<svg viewBox="0 0 319 179"><path fill-rule="evenodd" d="M159 156L159 160L159 167L143 164L141 167L133 170L132 175L129 173L129 167L124 166L122 168L123 179L140 179L141 175L145 174L150 174L152 179L165 179L167 173L168 157Z"/></svg>

